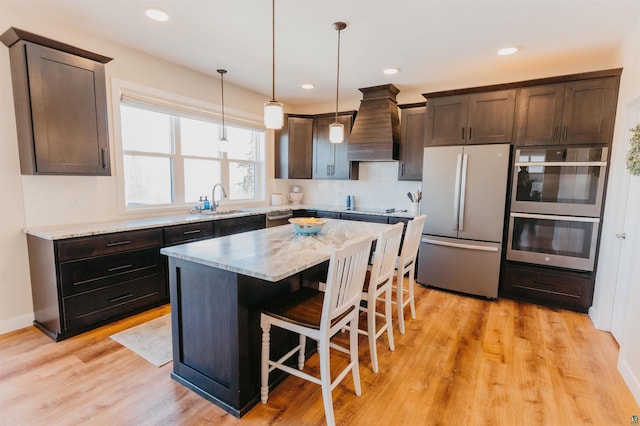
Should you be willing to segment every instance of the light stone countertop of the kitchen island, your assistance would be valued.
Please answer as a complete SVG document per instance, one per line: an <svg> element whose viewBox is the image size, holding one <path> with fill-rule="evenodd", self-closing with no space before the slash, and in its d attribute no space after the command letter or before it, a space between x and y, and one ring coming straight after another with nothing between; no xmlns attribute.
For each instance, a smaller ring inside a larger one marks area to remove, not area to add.
<svg viewBox="0 0 640 426"><path fill-rule="evenodd" d="M160 253L250 277L279 281L329 260L331 252L346 242L369 235L377 239L392 225L325 219L317 235L298 235L292 225L282 225L173 247Z"/></svg>

